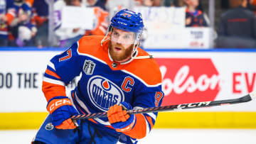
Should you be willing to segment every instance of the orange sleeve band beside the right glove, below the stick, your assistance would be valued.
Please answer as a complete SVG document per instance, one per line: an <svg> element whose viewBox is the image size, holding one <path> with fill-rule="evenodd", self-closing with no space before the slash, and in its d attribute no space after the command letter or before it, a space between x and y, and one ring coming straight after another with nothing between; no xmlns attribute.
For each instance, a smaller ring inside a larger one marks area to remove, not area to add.
<svg viewBox="0 0 256 144"><path fill-rule="evenodd" d="M144 138L146 136L146 120L142 114L135 114L137 121L131 131L124 132L131 138Z"/></svg>

